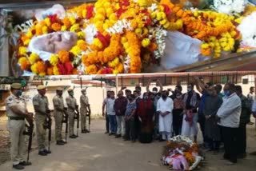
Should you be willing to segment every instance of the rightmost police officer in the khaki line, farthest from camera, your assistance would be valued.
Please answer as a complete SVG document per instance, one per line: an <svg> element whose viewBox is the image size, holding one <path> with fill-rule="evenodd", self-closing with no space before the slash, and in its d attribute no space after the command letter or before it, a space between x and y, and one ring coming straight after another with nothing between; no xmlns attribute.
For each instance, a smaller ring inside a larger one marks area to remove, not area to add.
<svg viewBox="0 0 256 171"><path fill-rule="evenodd" d="M86 129L86 114L89 113L90 104L88 97L86 96L86 89L81 90L82 95L80 96L80 113L81 113L81 129L82 133L90 133Z"/></svg>

